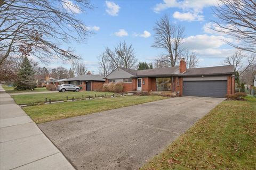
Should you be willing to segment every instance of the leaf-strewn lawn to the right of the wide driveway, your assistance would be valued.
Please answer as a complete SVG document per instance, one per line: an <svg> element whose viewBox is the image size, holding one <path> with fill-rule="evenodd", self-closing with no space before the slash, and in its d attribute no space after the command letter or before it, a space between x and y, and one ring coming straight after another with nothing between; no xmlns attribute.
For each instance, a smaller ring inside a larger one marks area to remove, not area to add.
<svg viewBox="0 0 256 170"><path fill-rule="evenodd" d="M141 169L256 169L256 98L225 100Z"/></svg>

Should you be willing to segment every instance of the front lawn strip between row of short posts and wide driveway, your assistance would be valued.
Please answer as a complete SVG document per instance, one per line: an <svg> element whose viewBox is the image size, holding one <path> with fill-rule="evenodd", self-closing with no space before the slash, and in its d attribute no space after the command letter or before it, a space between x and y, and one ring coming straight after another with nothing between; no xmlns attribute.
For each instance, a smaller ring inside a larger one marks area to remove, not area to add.
<svg viewBox="0 0 256 170"><path fill-rule="evenodd" d="M23 110L36 123L59 120L61 118L86 115L110 109L132 106L150 101L166 99L161 96L124 96L93 100L70 101L47 105L23 107Z"/></svg>

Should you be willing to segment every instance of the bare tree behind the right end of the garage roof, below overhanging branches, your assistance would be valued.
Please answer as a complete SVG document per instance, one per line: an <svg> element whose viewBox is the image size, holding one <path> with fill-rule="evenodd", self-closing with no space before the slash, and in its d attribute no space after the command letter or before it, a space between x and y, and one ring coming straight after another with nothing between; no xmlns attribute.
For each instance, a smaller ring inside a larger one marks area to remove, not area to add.
<svg viewBox="0 0 256 170"><path fill-rule="evenodd" d="M245 55L241 51L235 52L233 55L227 57L225 61L223 61L223 65L234 65L234 72L239 72L240 75L242 75L247 69L249 69L252 65L255 64L255 56L247 56L247 62L246 65L243 61Z"/></svg>

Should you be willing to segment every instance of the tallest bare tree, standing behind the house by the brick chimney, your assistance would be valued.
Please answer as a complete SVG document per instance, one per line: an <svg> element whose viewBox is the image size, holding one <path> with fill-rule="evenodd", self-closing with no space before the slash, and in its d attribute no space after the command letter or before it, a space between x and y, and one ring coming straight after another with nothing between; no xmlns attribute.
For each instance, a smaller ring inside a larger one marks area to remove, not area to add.
<svg viewBox="0 0 256 170"><path fill-rule="evenodd" d="M164 58L175 66L180 54L183 51L182 40L185 37L184 28L179 25L171 25L169 15L164 15L154 27L153 47L163 48L166 51Z"/></svg>

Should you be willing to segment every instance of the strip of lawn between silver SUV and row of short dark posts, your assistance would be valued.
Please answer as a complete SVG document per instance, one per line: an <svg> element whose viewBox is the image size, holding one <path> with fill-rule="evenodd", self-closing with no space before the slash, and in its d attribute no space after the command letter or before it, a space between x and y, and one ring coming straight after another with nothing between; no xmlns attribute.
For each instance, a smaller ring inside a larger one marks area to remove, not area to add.
<svg viewBox="0 0 256 170"><path fill-rule="evenodd" d="M47 101L51 99L51 101L60 101L60 100L66 100L67 96L68 99L71 100L73 97L74 99L82 98L84 95L85 97L88 97L89 95L91 97L95 97L95 94L97 96L102 96L107 94L108 96L113 95L113 92L94 92L94 91L80 91L80 92L55 92L51 94L27 94L27 95L14 95L12 98L18 105L25 105L25 104L31 104L31 103L42 103L45 101L45 98L47 98Z"/></svg>

